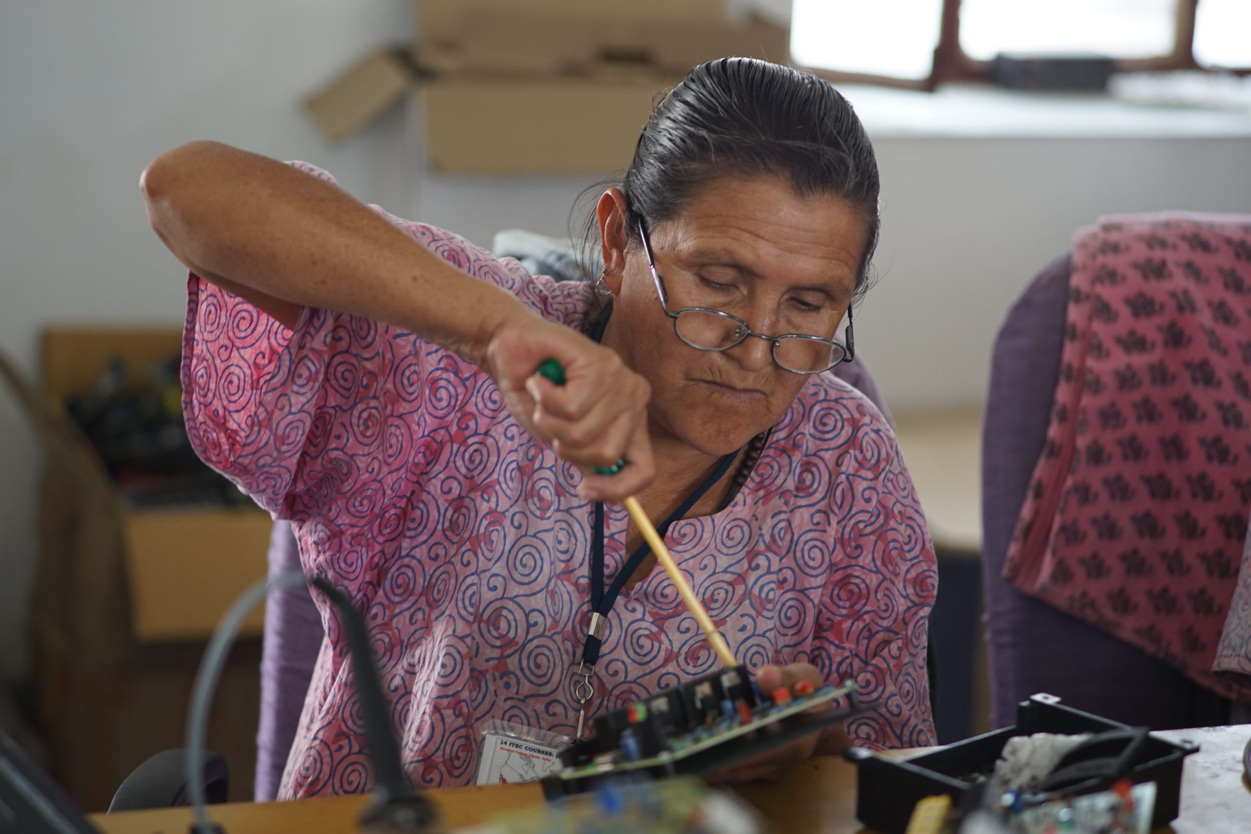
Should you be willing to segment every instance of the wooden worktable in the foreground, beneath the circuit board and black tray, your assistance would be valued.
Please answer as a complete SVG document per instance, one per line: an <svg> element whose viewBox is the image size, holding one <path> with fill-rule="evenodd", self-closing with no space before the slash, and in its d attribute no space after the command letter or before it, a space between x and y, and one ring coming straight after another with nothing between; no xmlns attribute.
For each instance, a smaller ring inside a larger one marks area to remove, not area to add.
<svg viewBox="0 0 1251 834"><path fill-rule="evenodd" d="M1251 783L1242 778L1241 754L1251 724L1160 733L1187 738L1202 749L1186 760L1181 816L1163 831L1233 834L1251 831ZM896 755L914 755L901 750ZM779 834L853 834L856 768L833 756L817 756L794 768L782 781L737 789L773 823ZM493 785L432 790L430 798L449 828L483 823L518 808L543 803L538 785ZM226 834L345 834L355 830L363 796L333 796L295 803L214 805L211 816ZM96 814L91 821L105 834L186 834L186 809Z"/></svg>

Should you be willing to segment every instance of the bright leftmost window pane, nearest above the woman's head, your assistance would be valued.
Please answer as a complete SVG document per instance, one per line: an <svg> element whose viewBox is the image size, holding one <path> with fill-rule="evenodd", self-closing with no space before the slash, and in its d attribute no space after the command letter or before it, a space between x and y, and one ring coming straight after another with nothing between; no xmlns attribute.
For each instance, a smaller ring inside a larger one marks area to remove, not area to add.
<svg viewBox="0 0 1251 834"><path fill-rule="evenodd" d="M801 66L929 78L942 0L794 0L791 58Z"/></svg>

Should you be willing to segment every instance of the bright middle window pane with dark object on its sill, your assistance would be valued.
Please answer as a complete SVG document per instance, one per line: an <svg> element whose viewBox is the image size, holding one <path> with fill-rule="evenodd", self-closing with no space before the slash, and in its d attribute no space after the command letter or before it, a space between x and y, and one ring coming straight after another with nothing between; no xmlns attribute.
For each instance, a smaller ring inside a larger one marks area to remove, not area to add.
<svg viewBox="0 0 1251 834"><path fill-rule="evenodd" d="M1176 10L1177 0L962 0L960 45L983 61L998 53L1158 58L1173 50Z"/></svg>

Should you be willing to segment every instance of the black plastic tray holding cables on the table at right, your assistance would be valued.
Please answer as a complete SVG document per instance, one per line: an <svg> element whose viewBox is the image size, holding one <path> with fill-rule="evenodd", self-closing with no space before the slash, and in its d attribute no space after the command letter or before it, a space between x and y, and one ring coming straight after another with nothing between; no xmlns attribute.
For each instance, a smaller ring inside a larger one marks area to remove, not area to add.
<svg viewBox="0 0 1251 834"><path fill-rule="evenodd" d="M904 834L912 808L926 796L947 794L957 808L967 808L975 800L973 791L980 791L981 785L962 776L992 768L1003 745L1013 735L1073 735L1125 726L1127 725L1118 721L1063 706L1055 695L1038 694L1017 705L1015 726L957 741L906 761L853 748L847 758L856 761L859 771L856 816L879 834ZM1148 758L1130 771L1130 779L1133 783L1156 783L1152 829L1177 818L1182 760L1197 750L1198 745L1190 741L1173 743L1155 735L1147 736Z"/></svg>

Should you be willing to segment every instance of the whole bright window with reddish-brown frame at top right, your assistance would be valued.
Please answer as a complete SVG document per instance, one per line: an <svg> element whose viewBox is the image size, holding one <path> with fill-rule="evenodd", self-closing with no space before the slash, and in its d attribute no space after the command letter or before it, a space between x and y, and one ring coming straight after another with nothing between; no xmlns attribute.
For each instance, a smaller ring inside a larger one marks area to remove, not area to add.
<svg viewBox="0 0 1251 834"><path fill-rule="evenodd" d="M933 90L988 78L1000 53L1247 74L1251 0L793 0L792 58L832 80Z"/></svg>

